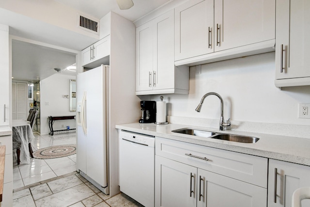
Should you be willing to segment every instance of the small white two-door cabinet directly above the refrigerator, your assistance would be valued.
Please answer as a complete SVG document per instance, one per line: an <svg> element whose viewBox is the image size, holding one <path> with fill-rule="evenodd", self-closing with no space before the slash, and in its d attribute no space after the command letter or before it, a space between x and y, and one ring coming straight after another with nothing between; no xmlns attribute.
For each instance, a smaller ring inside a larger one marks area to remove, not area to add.
<svg viewBox="0 0 310 207"><path fill-rule="evenodd" d="M110 35L99 40L88 48L82 50L82 66L93 63L96 60L109 56Z"/></svg>

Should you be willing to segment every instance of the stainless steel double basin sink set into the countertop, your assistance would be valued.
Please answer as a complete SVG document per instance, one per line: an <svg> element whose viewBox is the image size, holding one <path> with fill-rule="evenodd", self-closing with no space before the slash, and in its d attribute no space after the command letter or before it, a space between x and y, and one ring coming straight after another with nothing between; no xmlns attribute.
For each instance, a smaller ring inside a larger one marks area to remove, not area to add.
<svg viewBox="0 0 310 207"><path fill-rule="evenodd" d="M199 129L192 129L192 128L181 128L172 130L172 132L181 133L181 134L188 134L198 137L205 137L205 138L213 138L218 140L226 140L238 143L256 143L259 138L256 137L248 137L248 136L241 136L241 135L234 135L234 134L221 134L212 131L204 131Z"/></svg>

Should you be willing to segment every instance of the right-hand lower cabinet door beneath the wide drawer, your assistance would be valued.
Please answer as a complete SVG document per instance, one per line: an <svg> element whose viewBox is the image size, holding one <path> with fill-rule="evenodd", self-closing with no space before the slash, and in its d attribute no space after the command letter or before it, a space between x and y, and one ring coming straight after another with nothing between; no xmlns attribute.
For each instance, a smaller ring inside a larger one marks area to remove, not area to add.
<svg viewBox="0 0 310 207"><path fill-rule="evenodd" d="M198 169L197 207L265 207L267 189Z"/></svg>

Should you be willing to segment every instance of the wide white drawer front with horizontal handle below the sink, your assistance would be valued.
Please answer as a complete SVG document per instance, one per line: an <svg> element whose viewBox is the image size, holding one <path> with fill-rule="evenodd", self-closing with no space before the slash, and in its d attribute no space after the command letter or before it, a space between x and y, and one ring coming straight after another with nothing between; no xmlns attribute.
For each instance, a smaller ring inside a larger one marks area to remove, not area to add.
<svg viewBox="0 0 310 207"><path fill-rule="evenodd" d="M155 153L158 156L267 188L267 158L160 137L155 138Z"/></svg>

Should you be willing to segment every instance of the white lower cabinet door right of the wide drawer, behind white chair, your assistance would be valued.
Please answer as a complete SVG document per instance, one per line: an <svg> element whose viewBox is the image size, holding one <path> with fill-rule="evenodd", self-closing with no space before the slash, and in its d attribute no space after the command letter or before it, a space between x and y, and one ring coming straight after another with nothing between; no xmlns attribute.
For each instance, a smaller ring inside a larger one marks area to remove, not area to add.
<svg viewBox="0 0 310 207"><path fill-rule="evenodd" d="M290 207L293 192L300 187L310 187L310 167L269 159L268 207ZM303 200L309 207L310 200Z"/></svg>

